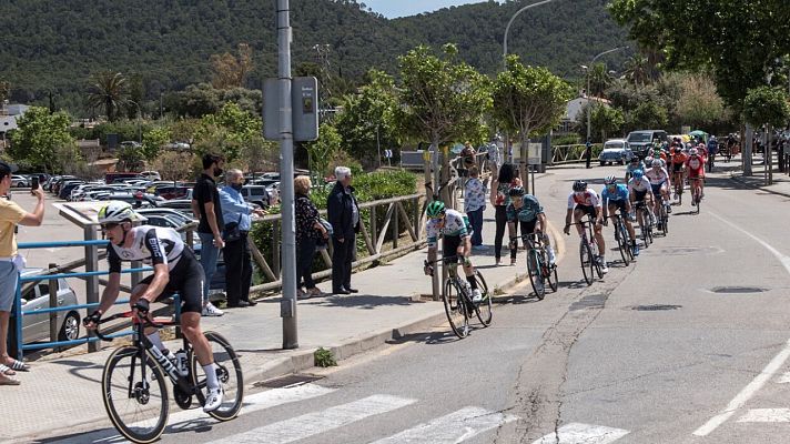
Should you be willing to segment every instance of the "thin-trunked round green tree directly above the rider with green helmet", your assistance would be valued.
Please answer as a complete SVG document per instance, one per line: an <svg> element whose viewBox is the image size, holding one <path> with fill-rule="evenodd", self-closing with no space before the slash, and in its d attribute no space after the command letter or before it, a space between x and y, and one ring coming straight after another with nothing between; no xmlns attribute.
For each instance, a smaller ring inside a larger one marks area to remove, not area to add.
<svg viewBox="0 0 790 444"><path fill-rule="evenodd" d="M427 139L437 150L478 134L482 117L492 103L488 79L457 60L455 46L445 44L443 50L437 57L421 46L398 58L403 84L396 115L401 128L417 140ZM443 155L442 181L448 179L449 160Z"/></svg>

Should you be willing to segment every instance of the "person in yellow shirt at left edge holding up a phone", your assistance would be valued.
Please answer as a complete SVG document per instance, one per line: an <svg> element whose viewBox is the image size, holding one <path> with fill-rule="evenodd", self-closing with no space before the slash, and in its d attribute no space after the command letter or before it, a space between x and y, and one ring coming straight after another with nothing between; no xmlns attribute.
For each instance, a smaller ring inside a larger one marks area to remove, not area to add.
<svg viewBox="0 0 790 444"><path fill-rule="evenodd" d="M0 161L0 196L8 195L11 174L17 165ZM38 199L36 210L28 213L16 202L0 198L0 385L19 385L12 376L16 372L27 372L30 367L8 354L8 323L17 296L21 256L17 254L16 226L39 226L44 219L44 193L41 188L31 193Z"/></svg>

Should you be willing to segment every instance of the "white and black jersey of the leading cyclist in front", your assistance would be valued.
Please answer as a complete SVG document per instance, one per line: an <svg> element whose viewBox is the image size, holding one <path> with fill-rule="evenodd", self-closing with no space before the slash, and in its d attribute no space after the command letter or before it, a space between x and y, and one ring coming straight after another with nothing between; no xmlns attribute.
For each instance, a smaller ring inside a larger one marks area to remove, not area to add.
<svg viewBox="0 0 790 444"><path fill-rule="evenodd" d="M130 248L111 244L107 249L107 260L111 273L121 272L121 261L142 261L146 265L165 264L173 270L184 251L181 235L173 229L141 225L129 230L126 235L134 236Z"/></svg>

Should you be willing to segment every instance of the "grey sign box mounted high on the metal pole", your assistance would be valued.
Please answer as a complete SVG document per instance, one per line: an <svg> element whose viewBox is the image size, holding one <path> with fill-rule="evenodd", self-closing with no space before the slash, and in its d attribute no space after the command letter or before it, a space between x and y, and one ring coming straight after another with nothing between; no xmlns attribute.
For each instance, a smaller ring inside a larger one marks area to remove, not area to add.
<svg viewBox="0 0 790 444"><path fill-rule="evenodd" d="M280 81L266 79L263 83L263 137L280 140ZM314 77L295 77L291 85L291 118L294 141L318 139L318 80Z"/></svg>

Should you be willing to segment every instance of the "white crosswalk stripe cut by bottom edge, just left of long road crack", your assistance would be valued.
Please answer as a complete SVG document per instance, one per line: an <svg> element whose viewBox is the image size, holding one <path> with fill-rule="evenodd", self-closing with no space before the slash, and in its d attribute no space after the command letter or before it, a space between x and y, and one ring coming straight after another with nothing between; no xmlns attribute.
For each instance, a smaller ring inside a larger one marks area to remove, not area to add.
<svg viewBox="0 0 790 444"><path fill-rule="evenodd" d="M460 443L517 418L482 407L464 407L372 444Z"/></svg>

